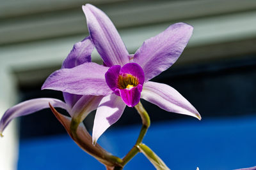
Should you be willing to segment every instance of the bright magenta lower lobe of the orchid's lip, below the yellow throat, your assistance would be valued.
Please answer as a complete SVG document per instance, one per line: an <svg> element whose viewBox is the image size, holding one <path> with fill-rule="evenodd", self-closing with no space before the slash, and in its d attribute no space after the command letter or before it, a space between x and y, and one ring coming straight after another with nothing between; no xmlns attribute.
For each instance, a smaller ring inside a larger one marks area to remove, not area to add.
<svg viewBox="0 0 256 170"><path fill-rule="evenodd" d="M118 89L120 96L125 104L129 107L133 107L140 102L142 85L132 87L131 89Z"/></svg>

